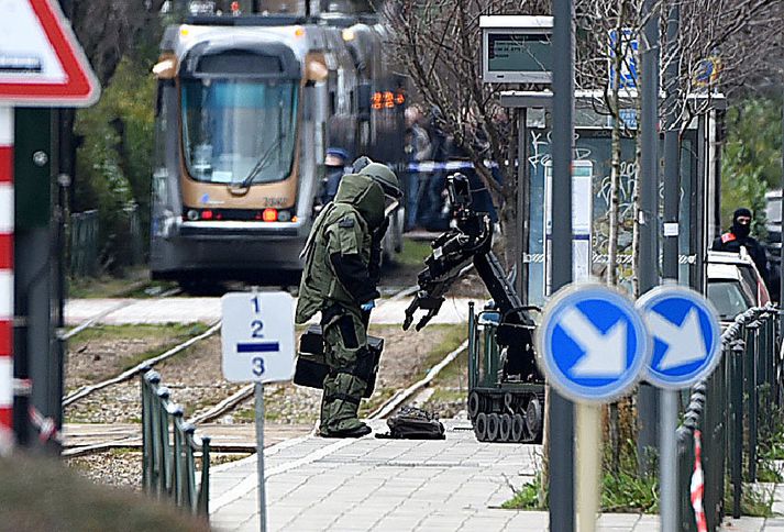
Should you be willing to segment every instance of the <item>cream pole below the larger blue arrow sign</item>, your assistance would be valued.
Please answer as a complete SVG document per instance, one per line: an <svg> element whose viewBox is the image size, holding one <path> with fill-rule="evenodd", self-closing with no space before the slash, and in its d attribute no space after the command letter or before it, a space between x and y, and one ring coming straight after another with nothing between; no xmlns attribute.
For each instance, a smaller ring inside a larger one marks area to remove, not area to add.
<svg viewBox="0 0 784 532"><path fill-rule="evenodd" d="M601 410L577 403L577 530L594 532L601 492Z"/></svg>

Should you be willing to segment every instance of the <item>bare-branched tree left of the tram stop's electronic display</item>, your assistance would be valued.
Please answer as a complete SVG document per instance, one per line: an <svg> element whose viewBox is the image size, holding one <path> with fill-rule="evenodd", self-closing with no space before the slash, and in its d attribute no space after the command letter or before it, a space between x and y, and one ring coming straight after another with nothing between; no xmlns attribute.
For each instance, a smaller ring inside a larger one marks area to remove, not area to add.
<svg viewBox="0 0 784 532"><path fill-rule="evenodd" d="M546 0L399 0L385 5L393 29L395 60L431 108L439 126L474 163L500 212L501 228L512 228L517 179L514 120L497 102L504 86L482 80L479 15L546 14ZM501 181L485 160L499 165ZM507 246L509 248L509 246ZM507 255L507 261L510 256Z"/></svg>

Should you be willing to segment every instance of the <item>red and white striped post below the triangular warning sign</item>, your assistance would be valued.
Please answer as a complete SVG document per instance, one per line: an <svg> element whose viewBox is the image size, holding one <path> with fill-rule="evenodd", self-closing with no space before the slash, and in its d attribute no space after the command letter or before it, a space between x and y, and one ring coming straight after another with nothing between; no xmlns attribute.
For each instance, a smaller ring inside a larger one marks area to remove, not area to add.
<svg viewBox="0 0 784 532"><path fill-rule="evenodd" d="M13 444L13 108L0 107L0 454Z"/></svg>

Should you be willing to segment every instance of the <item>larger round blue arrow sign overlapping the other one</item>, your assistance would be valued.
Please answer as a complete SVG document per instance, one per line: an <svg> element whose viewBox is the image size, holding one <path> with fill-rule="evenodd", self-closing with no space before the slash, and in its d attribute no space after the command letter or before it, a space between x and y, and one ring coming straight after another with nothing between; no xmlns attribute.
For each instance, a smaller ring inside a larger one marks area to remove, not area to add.
<svg viewBox="0 0 784 532"><path fill-rule="evenodd" d="M548 381L565 397L606 402L629 391L650 358L648 331L631 301L601 285L561 289L537 334Z"/></svg>

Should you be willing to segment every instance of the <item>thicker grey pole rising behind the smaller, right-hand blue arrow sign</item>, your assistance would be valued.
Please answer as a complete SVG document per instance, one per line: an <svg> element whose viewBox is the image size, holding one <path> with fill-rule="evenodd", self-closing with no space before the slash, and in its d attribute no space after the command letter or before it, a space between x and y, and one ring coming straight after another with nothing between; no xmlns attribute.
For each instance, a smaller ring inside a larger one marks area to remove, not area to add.
<svg viewBox="0 0 784 532"><path fill-rule="evenodd" d="M643 26L642 87L640 135L640 293L659 285L659 15L656 0L645 0ZM641 384L638 394L640 432L638 456L640 469L649 473L652 461L649 450L656 446L656 390Z"/></svg>

